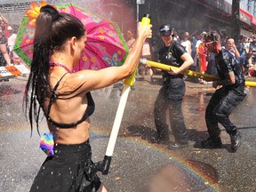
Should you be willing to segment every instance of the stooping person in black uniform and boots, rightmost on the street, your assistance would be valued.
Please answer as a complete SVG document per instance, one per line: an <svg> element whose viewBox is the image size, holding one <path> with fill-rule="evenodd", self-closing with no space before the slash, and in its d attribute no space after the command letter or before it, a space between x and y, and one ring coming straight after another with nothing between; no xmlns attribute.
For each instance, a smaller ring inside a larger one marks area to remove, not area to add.
<svg viewBox="0 0 256 192"><path fill-rule="evenodd" d="M241 144L241 133L231 123L229 115L244 100L248 90L244 85L242 68L235 56L221 47L220 35L210 31L205 36L205 45L208 52L215 53L215 63L220 76L212 86L217 88L205 111L205 121L210 137L202 141L203 148L221 148L220 128L222 124L230 135L231 148L236 151Z"/></svg>

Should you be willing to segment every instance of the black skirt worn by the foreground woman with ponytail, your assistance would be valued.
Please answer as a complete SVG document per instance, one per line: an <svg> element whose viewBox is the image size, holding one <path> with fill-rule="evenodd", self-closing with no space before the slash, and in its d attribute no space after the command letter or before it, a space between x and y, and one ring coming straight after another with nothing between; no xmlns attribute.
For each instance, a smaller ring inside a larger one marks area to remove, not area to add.
<svg viewBox="0 0 256 192"><path fill-rule="evenodd" d="M100 179L92 172L89 140L82 144L55 144L54 156L48 156L36 175L31 192L94 192Z"/></svg>

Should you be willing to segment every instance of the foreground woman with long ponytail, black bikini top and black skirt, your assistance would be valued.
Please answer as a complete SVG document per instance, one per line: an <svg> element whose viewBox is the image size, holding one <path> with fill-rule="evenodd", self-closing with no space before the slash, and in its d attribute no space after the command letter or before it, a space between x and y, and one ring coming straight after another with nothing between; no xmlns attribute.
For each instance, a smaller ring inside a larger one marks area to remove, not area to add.
<svg viewBox="0 0 256 192"><path fill-rule="evenodd" d="M76 17L59 13L51 5L41 8L25 103L31 132L33 122L39 132L39 118L44 114L50 133L41 140L48 156L30 191L107 191L92 170L89 116L94 102L90 92L132 74L145 39L152 36L151 27L139 25L139 35L123 66L73 72L84 52L86 29ZM50 140L47 148L45 140Z"/></svg>

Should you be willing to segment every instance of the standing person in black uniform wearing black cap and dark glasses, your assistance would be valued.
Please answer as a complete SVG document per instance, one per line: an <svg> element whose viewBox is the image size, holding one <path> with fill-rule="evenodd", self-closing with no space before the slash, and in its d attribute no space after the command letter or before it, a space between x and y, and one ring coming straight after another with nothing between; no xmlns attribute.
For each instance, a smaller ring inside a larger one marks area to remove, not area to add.
<svg viewBox="0 0 256 192"><path fill-rule="evenodd" d="M179 67L179 69L162 71L164 83L158 93L154 108L157 142L168 144L169 149L184 148L188 147L188 133L181 110L185 94L185 83L181 73L193 64L193 59L182 45L174 41L170 25L161 26L160 35L164 47L159 51L159 62ZM169 140L169 129L166 124L168 109L174 142Z"/></svg>

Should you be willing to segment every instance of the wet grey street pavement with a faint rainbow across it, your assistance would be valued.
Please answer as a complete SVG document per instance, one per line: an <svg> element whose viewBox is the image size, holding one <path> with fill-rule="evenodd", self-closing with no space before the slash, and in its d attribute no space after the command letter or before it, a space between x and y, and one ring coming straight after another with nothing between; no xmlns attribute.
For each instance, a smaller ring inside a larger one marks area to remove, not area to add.
<svg viewBox="0 0 256 192"><path fill-rule="evenodd" d="M26 78L19 76L0 82L0 191L28 191L44 152L39 149L39 136L30 128L22 112ZM130 92L116 141L108 175L101 175L112 192L169 191L256 191L256 105L255 90L230 116L242 132L242 145L236 153L230 149L228 134L221 128L223 148L203 149L199 141L207 137L204 109L214 90L211 84L186 81L187 92L183 113L188 128L189 146L171 151L152 143L156 133L153 106L160 88L160 76L150 84L149 78L137 78ZM91 122L92 159L103 159L108 137L116 116L121 83L92 92L96 109ZM44 120L40 132L47 132Z"/></svg>

